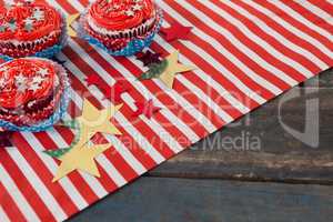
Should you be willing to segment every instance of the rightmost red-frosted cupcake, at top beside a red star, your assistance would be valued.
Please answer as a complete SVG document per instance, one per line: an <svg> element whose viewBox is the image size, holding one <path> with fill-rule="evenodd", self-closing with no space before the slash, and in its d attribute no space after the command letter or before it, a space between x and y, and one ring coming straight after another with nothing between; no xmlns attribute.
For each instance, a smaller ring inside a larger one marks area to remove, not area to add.
<svg viewBox="0 0 333 222"><path fill-rule="evenodd" d="M122 56L129 56L151 42L161 20L153 0L98 0L89 7L82 23L84 31L108 50L128 48Z"/></svg>

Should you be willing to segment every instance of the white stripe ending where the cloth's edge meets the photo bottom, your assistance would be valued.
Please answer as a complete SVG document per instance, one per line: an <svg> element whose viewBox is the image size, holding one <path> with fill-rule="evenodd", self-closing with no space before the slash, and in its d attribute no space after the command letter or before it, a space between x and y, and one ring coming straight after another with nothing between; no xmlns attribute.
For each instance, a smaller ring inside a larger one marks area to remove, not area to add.
<svg viewBox="0 0 333 222"><path fill-rule="evenodd" d="M11 159L17 163L18 168L24 174L31 186L36 190L38 195L48 206L50 212L58 221L63 221L68 218L68 215L63 212L62 208L54 199L54 196L50 193L48 188L41 181L41 179L37 175L27 160L22 157L22 154L17 149L7 150Z"/></svg>

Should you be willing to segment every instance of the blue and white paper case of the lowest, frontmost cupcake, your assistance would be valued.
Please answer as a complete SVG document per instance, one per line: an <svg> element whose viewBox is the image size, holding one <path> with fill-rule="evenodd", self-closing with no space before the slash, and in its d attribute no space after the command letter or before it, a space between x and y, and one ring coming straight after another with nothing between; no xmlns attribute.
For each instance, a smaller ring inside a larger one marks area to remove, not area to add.
<svg viewBox="0 0 333 222"><path fill-rule="evenodd" d="M61 119L63 119L64 114L67 113L69 102L70 102L70 80L67 75L67 72L64 68L56 62L53 62L53 65L57 65L57 69L60 70L61 73L63 73L63 92L61 95L60 103L58 108L56 109L54 113L47 120L40 121L37 124L32 125L16 125L11 122L0 120L0 128L3 128L8 131L28 131L28 132L41 132L46 131L49 128L53 127L57 122L59 122Z"/></svg>

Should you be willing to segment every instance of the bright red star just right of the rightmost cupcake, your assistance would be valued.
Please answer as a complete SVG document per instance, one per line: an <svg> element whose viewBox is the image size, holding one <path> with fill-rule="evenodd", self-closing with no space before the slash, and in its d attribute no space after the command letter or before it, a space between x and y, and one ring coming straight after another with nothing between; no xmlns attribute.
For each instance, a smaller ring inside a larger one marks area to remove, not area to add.
<svg viewBox="0 0 333 222"><path fill-rule="evenodd" d="M192 27L184 27L174 22L169 28L162 28L161 32L165 36L167 41L174 41L178 39L188 40L192 29Z"/></svg>

